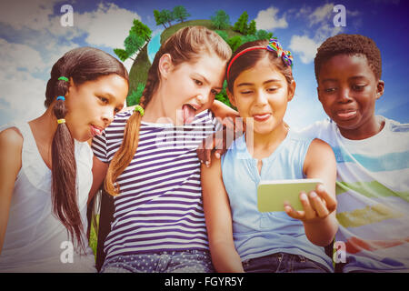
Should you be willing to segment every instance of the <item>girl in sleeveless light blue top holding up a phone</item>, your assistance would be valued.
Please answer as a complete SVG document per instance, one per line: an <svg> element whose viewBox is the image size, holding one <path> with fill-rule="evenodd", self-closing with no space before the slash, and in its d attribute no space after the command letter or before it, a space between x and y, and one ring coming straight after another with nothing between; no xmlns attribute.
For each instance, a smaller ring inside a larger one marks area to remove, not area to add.
<svg viewBox="0 0 409 291"><path fill-rule="evenodd" d="M337 230L335 159L330 146L284 123L293 99L293 57L276 39L240 46L226 70L227 94L246 132L210 167L202 166L209 246L218 272L331 272L324 252ZM262 180L320 178L295 211L261 213Z"/></svg>

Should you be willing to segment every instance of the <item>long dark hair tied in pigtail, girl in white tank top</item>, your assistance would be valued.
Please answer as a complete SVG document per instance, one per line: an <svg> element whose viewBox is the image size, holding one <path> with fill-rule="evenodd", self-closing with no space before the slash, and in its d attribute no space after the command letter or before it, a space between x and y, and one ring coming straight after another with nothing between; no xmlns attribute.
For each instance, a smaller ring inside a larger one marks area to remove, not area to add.
<svg viewBox="0 0 409 291"><path fill-rule="evenodd" d="M69 82L58 80L60 76L72 78L75 85L95 81L103 75L116 74L128 81L125 66L114 56L93 47L75 48L63 55L51 69L51 77L45 91L45 107L52 105L59 95L65 96ZM57 119L64 118L67 110L65 101L58 100L53 108ZM53 213L66 227L77 246L85 250L84 226L77 204L75 144L65 123L57 126L52 143L52 186Z"/></svg>

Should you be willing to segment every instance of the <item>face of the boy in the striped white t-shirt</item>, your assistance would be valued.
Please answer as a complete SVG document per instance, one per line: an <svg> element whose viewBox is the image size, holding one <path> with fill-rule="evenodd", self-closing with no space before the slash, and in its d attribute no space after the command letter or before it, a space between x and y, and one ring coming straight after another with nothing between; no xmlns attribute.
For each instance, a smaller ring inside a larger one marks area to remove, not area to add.
<svg viewBox="0 0 409 291"><path fill-rule="evenodd" d="M325 113L350 139L374 134L375 101L384 94L364 55L335 55L321 66L318 98Z"/></svg>

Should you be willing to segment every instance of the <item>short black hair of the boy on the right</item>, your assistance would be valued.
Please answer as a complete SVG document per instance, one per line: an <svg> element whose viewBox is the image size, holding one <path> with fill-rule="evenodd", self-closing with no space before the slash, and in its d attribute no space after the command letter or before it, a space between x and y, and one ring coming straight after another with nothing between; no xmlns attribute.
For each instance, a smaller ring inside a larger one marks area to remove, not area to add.
<svg viewBox="0 0 409 291"><path fill-rule="evenodd" d="M381 52L374 43L374 40L364 35L341 34L327 38L324 43L318 47L314 58L314 70L317 82L322 65L335 55L364 55L375 77L378 80L381 78Z"/></svg>

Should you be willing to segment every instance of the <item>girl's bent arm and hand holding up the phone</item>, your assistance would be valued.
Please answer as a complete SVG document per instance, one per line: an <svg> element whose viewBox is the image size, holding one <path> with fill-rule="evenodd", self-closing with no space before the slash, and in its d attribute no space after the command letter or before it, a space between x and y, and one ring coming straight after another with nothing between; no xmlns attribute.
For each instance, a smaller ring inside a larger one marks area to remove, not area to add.
<svg viewBox="0 0 409 291"><path fill-rule="evenodd" d="M321 179L323 185L308 194L300 194L304 211L288 207L286 212L303 221L305 235L314 245L327 246L338 229L335 216L336 162L331 146L320 139L313 140L305 156L304 174L307 178Z"/></svg>

